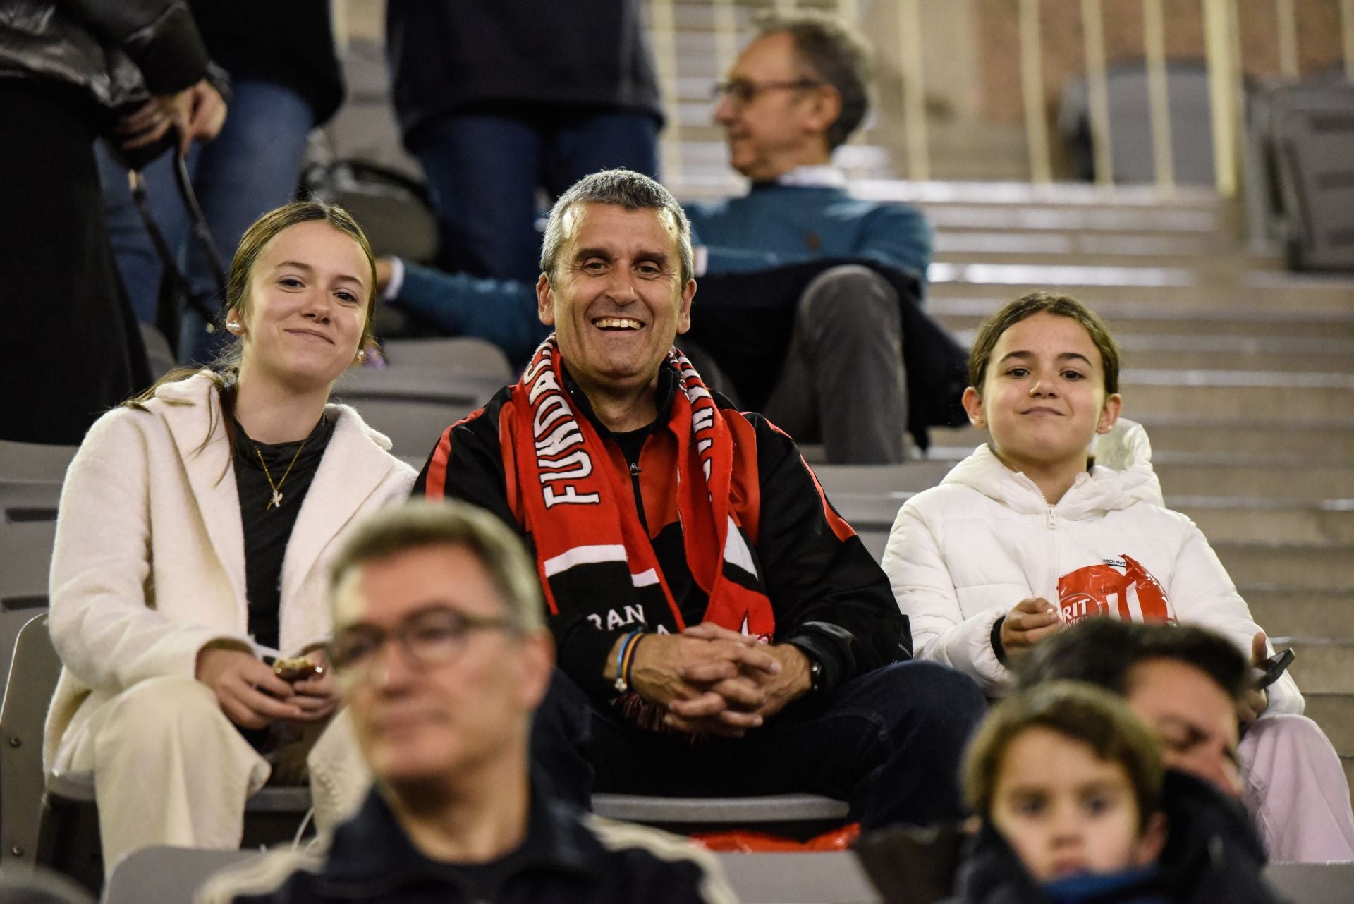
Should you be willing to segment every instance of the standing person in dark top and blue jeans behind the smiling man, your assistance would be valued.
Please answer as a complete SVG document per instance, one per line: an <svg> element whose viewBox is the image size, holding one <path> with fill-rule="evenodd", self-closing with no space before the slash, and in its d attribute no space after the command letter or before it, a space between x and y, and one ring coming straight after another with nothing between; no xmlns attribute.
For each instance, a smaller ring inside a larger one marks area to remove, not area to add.
<svg viewBox="0 0 1354 904"><path fill-rule="evenodd" d="M662 127L640 0L390 0L395 112L428 176L443 269L536 279L536 191L624 166Z"/></svg>

